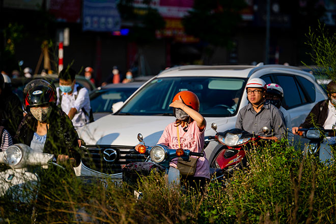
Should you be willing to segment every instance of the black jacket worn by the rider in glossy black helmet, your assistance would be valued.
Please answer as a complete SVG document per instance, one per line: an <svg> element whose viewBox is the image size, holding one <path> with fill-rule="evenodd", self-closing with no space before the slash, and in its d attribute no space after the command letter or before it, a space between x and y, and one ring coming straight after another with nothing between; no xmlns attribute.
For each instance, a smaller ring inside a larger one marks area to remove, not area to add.
<svg viewBox="0 0 336 224"><path fill-rule="evenodd" d="M76 159L76 164L80 163L80 154L78 147L78 135L72 125L69 117L58 106L52 106L52 112L48 118L49 129L44 144L43 152L54 154L69 155ZM31 145L34 132L36 132L37 120L30 114L27 114L17 129L15 143Z"/></svg>

